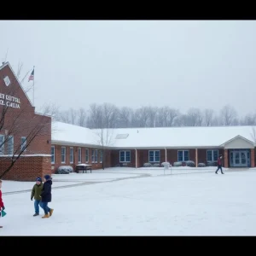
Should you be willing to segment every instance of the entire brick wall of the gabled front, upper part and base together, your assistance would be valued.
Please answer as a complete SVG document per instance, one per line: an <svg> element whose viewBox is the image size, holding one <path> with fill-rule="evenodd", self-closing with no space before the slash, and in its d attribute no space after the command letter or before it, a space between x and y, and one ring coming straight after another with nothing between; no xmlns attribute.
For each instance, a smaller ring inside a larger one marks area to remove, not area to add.
<svg viewBox="0 0 256 256"><path fill-rule="evenodd" d="M6 76L9 76L11 82L9 86L6 86L3 81L3 78ZM4 116L4 124L3 127L0 127L2 128L0 134L14 136L14 154L20 154L21 137L27 137L27 143L29 143L29 136L32 134L32 131L38 131L38 128L42 128L42 130L33 138L23 154L50 154L51 118L34 113L34 107L32 107L31 102L29 102L9 66L3 67L0 70L0 94L0 100L5 103L6 99L3 99L3 95L14 96L20 99L20 108L6 108L0 104L1 117L3 118ZM5 115L3 115L3 110L6 111ZM8 154L7 149L7 143L5 143L3 145L3 154ZM3 173L9 166L10 160L0 157L0 162L0 172ZM16 161L15 166L3 178L34 180L35 177L43 176L44 173L49 172L49 157L21 156Z"/></svg>

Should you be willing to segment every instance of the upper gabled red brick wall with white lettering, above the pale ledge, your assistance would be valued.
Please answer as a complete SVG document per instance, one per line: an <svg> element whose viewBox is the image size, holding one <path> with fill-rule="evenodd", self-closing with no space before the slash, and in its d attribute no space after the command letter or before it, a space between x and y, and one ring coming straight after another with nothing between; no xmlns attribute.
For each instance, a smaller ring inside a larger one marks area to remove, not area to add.
<svg viewBox="0 0 256 256"><path fill-rule="evenodd" d="M6 76L9 76L11 81L9 86L6 86L3 81ZM32 131L36 131L35 127L41 125L43 130L38 133L38 136L26 148L25 154L49 154L50 143L47 142L51 139L51 119L45 115L34 113L34 107L32 107L25 92L21 89L9 66L0 70L0 94L15 96L20 99L20 108L7 108L7 112L4 115L3 129L0 134L5 135L7 132L9 135L13 135L15 150L20 150L21 137L28 137ZM3 105L0 105L1 117L3 116L3 108ZM7 145L4 146L6 146L5 150L7 150ZM17 151L18 154L20 153L19 150Z"/></svg>

